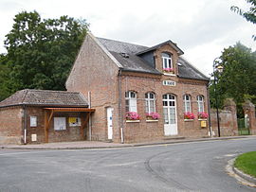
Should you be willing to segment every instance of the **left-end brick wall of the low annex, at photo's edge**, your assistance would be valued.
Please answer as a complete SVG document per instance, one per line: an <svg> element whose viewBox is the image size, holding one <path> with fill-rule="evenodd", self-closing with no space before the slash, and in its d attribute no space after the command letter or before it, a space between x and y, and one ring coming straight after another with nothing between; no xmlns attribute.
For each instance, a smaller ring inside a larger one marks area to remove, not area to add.
<svg viewBox="0 0 256 192"><path fill-rule="evenodd" d="M23 109L0 108L0 144L21 144Z"/></svg>

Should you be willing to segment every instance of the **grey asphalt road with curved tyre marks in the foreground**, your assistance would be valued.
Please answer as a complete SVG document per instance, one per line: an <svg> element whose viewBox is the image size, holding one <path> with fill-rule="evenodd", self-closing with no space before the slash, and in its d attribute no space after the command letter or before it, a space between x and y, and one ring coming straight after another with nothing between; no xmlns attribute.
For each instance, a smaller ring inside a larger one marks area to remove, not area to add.
<svg viewBox="0 0 256 192"><path fill-rule="evenodd" d="M256 191L225 166L256 138L141 148L0 150L0 191Z"/></svg>

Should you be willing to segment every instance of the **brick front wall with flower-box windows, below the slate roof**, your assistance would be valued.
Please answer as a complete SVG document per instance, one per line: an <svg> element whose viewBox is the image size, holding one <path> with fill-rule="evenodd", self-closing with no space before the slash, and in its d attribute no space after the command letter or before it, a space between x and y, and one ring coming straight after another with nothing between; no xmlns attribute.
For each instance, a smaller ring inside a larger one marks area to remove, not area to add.
<svg viewBox="0 0 256 192"><path fill-rule="evenodd" d="M176 86L164 86L162 85L163 79L172 79L176 81ZM192 113L197 114L197 101L196 96L205 96L205 111L208 112L207 106L207 89L206 85L197 80L178 79L176 77L159 77L153 79L149 76L136 77L135 74L128 74L122 77L122 113L124 124L124 139L126 143L131 142L143 142L156 139L162 139L164 137L164 122L163 122L163 105L162 96L165 94L173 94L176 96L176 113L177 113L177 127L178 136L186 137L202 137L208 136L209 129L201 128L200 121L195 115L193 121L184 121L183 110L183 95L189 94L192 96ZM137 93L137 113L141 119L139 123L126 123L125 121L125 99L124 94L127 91L135 91ZM146 122L145 115L145 94L148 92L154 92L156 97L156 113L161 115L158 122L149 123Z"/></svg>

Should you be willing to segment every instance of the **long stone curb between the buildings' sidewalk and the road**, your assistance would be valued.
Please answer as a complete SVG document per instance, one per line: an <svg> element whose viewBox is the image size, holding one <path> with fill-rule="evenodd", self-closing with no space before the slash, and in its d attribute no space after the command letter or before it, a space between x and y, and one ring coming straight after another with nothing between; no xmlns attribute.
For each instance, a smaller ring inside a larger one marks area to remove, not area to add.
<svg viewBox="0 0 256 192"><path fill-rule="evenodd" d="M231 139L244 139L248 138L246 136L236 136L236 137L213 137L213 138L202 138L202 139L191 139L191 140L172 140L172 141L162 141L154 143L141 143L141 144L126 144L125 146L101 146L101 147L42 147L42 148L33 148L33 147L24 147L24 146L0 146L0 149L99 149L99 148L136 148L143 146L157 146L157 145L168 145L168 144L181 144L181 143L194 143L194 142L204 142L204 141L222 141L222 140L231 140Z"/></svg>

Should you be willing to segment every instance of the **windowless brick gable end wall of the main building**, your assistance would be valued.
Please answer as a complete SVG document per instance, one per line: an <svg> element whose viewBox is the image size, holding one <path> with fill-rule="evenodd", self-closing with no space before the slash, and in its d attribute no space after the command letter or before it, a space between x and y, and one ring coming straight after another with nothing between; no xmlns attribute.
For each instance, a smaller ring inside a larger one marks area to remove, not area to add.
<svg viewBox="0 0 256 192"><path fill-rule="evenodd" d="M91 92L92 140L107 140L107 107L114 108L113 140L119 142L118 73L119 67L104 48L87 35L66 81L67 91L81 92L87 100ZM87 131L87 135L89 132ZM89 139L89 137L87 137Z"/></svg>

